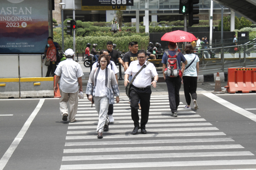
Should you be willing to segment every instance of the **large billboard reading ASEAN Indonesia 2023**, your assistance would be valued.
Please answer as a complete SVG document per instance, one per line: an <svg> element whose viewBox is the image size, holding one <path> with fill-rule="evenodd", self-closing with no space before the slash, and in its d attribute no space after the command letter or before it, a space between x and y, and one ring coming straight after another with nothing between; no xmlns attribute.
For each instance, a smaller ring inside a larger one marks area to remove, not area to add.
<svg viewBox="0 0 256 170"><path fill-rule="evenodd" d="M1 0L0 54L44 53L48 27L48 0Z"/></svg>

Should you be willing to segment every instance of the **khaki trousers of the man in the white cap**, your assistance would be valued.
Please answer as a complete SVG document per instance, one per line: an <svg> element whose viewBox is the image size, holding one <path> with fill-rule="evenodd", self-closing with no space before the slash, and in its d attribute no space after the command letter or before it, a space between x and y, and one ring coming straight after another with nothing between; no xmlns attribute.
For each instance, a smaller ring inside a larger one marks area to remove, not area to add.
<svg viewBox="0 0 256 170"><path fill-rule="evenodd" d="M78 91L75 93L66 93L62 92L60 90L61 94L61 100L60 100L60 113L63 116L63 114L68 114L68 106L67 102L69 103L69 122L74 122L76 112L77 112L77 107L78 107Z"/></svg>

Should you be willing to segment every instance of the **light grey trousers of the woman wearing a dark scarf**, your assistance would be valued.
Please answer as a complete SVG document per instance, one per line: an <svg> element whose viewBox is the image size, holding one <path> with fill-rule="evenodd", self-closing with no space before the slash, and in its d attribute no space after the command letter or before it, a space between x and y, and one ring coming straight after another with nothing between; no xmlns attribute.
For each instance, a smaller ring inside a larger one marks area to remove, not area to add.
<svg viewBox="0 0 256 170"><path fill-rule="evenodd" d="M97 126L97 132L99 131L103 132L104 125L108 124L107 114L108 114L109 99L107 98L107 96L105 97L93 96L93 100L94 100L96 111L99 114L99 123Z"/></svg>

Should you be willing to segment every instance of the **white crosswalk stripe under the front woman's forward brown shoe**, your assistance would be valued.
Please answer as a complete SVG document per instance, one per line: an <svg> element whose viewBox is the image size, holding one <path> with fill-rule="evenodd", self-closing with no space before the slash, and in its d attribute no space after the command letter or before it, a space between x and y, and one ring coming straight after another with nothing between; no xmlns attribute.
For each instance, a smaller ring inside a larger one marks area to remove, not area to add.
<svg viewBox="0 0 256 170"><path fill-rule="evenodd" d="M95 131L94 135L91 136L67 136L67 140L72 139L96 139L98 133ZM105 135L103 136L105 139L115 139L115 138L136 138L136 137L188 137L188 136L223 136L226 135L223 132L201 132L201 133L147 133L147 134L123 134L123 135Z"/></svg>

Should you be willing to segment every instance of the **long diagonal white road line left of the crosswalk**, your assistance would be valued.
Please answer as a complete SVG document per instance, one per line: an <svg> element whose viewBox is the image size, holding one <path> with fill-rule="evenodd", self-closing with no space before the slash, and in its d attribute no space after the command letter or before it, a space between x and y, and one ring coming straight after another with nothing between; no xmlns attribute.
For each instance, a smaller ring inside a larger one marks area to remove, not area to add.
<svg viewBox="0 0 256 170"><path fill-rule="evenodd" d="M15 139L13 140L11 146L8 148L8 150L4 153L4 156L1 158L0 160L0 170L4 169L4 166L7 164L8 160L10 159L10 157L12 156L12 153L15 151L15 149L17 148L18 144L20 143L21 139L24 137L24 135L26 134L30 124L32 123L32 121L34 120L34 118L36 117L37 113L39 112L39 110L41 109L43 103L44 103L45 99L40 99L35 110L32 112L32 114L29 116L28 120L25 122L25 124L23 125L23 127L21 128L19 134L15 137Z"/></svg>

